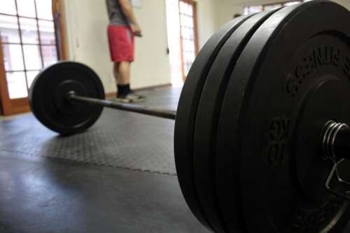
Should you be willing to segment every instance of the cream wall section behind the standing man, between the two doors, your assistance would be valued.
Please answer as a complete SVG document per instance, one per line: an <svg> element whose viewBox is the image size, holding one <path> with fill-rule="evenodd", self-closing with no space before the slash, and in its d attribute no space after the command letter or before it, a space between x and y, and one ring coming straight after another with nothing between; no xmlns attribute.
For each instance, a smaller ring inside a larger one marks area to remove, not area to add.
<svg viewBox="0 0 350 233"><path fill-rule="evenodd" d="M136 38L132 65L132 88L171 82L167 55L167 24L164 0L142 0L134 13L144 36ZM105 0L64 0L69 59L96 71L106 92L115 92L106 27Z"/></svg>

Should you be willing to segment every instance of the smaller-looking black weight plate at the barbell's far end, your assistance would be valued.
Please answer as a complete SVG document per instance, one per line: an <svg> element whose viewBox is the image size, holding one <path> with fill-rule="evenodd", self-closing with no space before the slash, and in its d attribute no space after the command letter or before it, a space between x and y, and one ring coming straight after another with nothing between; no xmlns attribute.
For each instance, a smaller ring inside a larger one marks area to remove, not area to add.
<svg viewBox="0 0 350 233"><path fill-rule="evenodd" d="M59 62L44 69L29 90L31 111L45 127L64 135L77 134L91 127L102 113L102 106L67 101L74 91L83 97L104 99L101 80L92 69L78 62Z"/></svg>

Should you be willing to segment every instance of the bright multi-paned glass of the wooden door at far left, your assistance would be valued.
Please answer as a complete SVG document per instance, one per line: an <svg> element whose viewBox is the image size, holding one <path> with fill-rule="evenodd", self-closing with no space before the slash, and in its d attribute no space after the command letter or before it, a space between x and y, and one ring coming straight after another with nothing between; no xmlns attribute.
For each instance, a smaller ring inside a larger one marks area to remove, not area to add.
<svg viewBox="0 0 350 233"><path fill-rule="evenodd" d="M25 98L36 74L57 62L52 0L0 0L0 38L10 99Z"/></svg>

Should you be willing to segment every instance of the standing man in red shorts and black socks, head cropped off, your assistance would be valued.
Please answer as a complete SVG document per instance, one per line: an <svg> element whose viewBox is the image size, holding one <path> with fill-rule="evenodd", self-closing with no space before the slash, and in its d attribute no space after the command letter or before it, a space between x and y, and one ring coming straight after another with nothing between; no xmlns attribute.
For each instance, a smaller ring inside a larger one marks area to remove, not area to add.
<svg viewBox="0 0 350 233"><path fill-rule="evenodd" d="M109 13L109 50L114 62L113 74L117 83L117 99L124 103L144 101L130 90L130 66L134 61L134 36L142 36L132 10L131 0L106 0Z"/></svg>

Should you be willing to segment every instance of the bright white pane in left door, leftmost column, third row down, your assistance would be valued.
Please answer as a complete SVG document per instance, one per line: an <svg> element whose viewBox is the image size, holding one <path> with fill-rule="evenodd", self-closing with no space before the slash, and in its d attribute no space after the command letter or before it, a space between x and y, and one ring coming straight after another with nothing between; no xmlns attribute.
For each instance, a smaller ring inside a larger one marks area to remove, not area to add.
<svg viewBox="0 0 350 233"><path fill-rule="evenodd" d="M20 45L3 45L2 50L3 64L6 71L22 71L25 69Z"/></svg>

